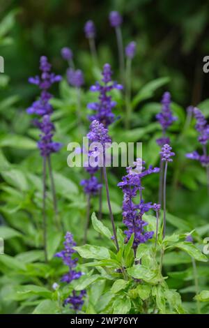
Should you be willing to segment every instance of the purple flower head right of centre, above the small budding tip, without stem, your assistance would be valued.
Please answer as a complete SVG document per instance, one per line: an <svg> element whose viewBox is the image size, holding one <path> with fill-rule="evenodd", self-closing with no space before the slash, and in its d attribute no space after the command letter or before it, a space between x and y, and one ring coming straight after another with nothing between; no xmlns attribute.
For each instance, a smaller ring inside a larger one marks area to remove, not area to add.
<svg viewBox="0 0 209 328"><path fill-rule="evenodd" d="M163 137L157 139L157 144L162 147L164 144L170 143L169 138L165 137L165 133L167 131L167 128L169 128L169 126L173 124L173 121L176 121L176 117L173 117L173 114L171 112L171 94L169 92L165 92L163 94L161 103L162 110L156 115L156 119L162 126Z"/></svg>

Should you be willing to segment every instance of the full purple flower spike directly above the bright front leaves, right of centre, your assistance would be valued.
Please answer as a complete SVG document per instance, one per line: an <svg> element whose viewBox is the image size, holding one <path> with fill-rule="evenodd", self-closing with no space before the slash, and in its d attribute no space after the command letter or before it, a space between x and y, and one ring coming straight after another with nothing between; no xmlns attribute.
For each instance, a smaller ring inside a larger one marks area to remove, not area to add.
<svg viewBox="0 0 209 328"><path fill-rule="evenodd" d="M136 250L139 244L145 243L154 234L153 231L146 232L144 230L144 227L148 223L143 220L143 215L152 209L153 205L151 202L146 203L142 199L141 191L144 187L141 185L141 179L148 174L160 172L160 169L150 166L146 170L142 166L145 162L142 162L140 158L134 164L136 169L133 170L132 167L127 167L127 174L122 178L123 181L119 182L118 187L123 191L123 223L127 227L127 230L125 230L127 237L125 241L127 242L132 234L134 234L133 248ZM134 204L133 200L137 196L138 191L141 199L139 204Z"/></svg>

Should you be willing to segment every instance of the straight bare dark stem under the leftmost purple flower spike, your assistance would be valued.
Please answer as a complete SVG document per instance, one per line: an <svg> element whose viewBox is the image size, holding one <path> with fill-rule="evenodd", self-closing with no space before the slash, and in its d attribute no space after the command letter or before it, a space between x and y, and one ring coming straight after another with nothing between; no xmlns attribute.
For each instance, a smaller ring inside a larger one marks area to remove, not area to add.
<svg viewBox="0 0 209 328"><path fill-rule="evenodd" d="M45 252L45 262L47 260L47 217L46 217L46 157L43 157L43 167L42 167L42 227L43 227L43 243Z"/></svg>

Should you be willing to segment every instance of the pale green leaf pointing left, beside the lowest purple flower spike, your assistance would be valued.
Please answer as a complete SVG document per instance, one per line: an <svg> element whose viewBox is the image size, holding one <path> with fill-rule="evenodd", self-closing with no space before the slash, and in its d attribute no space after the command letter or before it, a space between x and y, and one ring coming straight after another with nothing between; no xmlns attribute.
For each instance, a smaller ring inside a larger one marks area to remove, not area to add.
<svg viewBox="0 0 209 328"><path fill-rule="evenodd" d="M107 248L100 246L75 246L75 251L79 253L82 258L94 258L95 260L110 259L110 254Z"/></svg>

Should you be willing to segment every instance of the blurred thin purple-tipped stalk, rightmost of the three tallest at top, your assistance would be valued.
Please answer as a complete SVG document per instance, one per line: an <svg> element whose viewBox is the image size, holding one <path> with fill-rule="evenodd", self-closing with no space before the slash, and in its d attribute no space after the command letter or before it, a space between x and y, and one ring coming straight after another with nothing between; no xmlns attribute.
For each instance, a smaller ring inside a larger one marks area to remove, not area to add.
<svg viewBox="0 0 209 328"><path fill-rule="evenodd" d="M130 42L127 47L125 47L126 55L126 68L125 68L125 107L126 107L126 119L125 126L130 128L130 120L132 116L132 106L131 106L131 77L132 77L132 59L136 53L136 43L134 41Z"/></svg>

